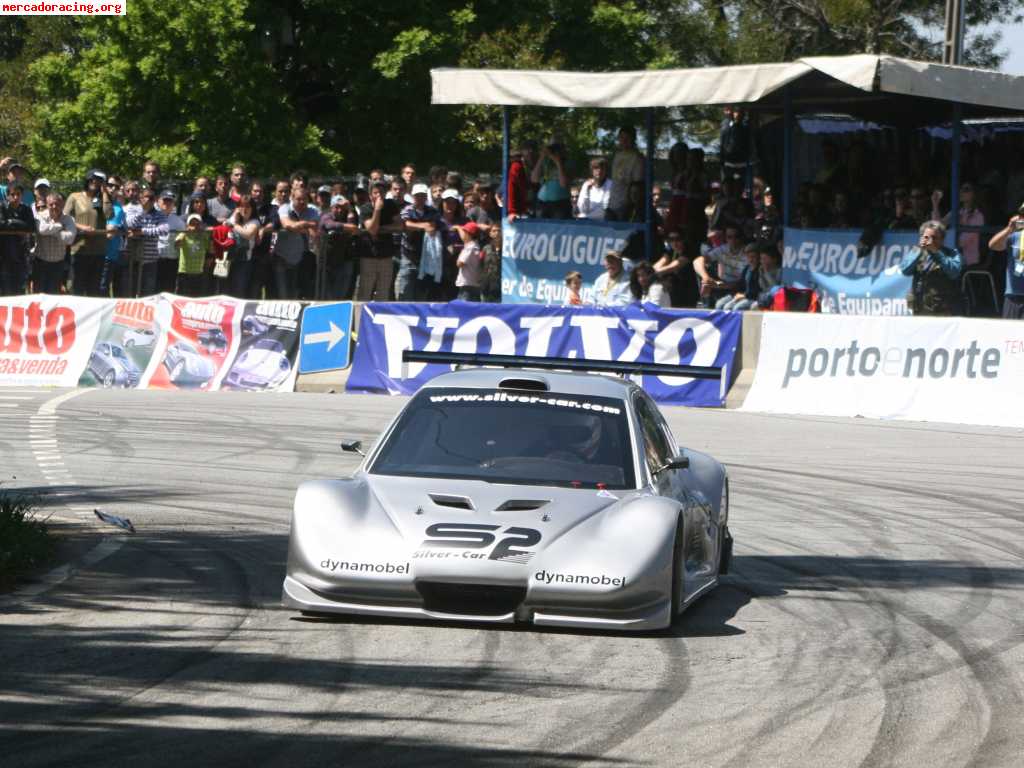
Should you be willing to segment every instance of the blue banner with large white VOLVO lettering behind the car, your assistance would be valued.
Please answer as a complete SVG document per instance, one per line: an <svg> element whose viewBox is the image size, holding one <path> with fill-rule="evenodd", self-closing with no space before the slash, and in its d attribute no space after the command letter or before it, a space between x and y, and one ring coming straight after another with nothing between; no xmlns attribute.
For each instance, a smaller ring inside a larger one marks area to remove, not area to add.
<svg viewBox="0 0 1024 768"><path fill-rule="evenodd" d="M362 308L349 392L412 394L447 365L403 364L417 351L520 354L594 360L715 366L731 379L739 342L738 312L476 304L371 303ZM637 377L656 400L722 406L718 380Z"/></svg>

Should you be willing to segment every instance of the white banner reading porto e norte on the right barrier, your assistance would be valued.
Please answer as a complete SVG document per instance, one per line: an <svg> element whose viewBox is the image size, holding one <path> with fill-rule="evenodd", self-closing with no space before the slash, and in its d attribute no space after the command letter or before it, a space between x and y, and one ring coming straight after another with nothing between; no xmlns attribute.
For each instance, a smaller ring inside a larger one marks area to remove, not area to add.
<svg viewBox="0 0 1024 768"><path fill-rule="evenodd" d="M744 411L1024 427L1024 328L766 313Z"/></svg>

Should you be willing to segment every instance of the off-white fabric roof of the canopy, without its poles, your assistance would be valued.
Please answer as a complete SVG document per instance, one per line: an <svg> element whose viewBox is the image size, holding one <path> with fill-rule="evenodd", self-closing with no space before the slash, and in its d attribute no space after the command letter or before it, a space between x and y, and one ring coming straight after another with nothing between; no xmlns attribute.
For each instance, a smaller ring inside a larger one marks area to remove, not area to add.
<svg viewBox="0 0 1024 768"><path fill-rule="evenodd" d="M708 104L867 105L892 99L958 102L964 117L1024 114L1024 77L971 67L858 54L813 56L790 63L642 72L532 70L431 71L435 104L630 109ZM880 99L881 97L881 99ZM860 102L858 104L858 102ZM855 110L861 112L861 110Z"/></svg>

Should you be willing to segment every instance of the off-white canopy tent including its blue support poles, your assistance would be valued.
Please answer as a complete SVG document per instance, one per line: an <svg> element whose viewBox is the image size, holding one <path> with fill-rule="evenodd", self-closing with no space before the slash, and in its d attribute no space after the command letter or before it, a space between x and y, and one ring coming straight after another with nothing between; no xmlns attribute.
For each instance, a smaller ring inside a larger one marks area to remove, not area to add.
<svg viewBox="0 0 1024 768"><path fill-rule="evenodd" d="M792 200L792 135L798 115L850 115L885 125L952 126L950 203L953 238L959 210L959 153L967 118L1024 116L1024 77L972 67L857 54L809 56L788 63L641 72L437 69L435 104L495 104L503 110L503 167L508 168L509 108L643 109L647 112L646 180L653 167L653 108L742 105L784 119L784 219ZM648 201L646 221L650 226ZM647 248L649 255L648 238Z"/></svg>

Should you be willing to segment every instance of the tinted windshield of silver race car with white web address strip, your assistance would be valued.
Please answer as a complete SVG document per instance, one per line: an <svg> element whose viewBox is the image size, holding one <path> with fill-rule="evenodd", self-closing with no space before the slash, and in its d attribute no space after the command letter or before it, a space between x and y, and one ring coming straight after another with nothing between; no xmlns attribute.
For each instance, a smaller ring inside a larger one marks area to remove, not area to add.
<svg viewBox="0 0 1024 768"><path fill-rule="evenodd" d="M421 391L370 472L523 485L635 487L623 400L548 392Z"/></svg>

